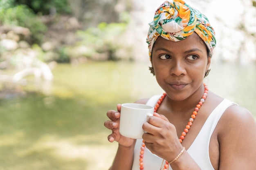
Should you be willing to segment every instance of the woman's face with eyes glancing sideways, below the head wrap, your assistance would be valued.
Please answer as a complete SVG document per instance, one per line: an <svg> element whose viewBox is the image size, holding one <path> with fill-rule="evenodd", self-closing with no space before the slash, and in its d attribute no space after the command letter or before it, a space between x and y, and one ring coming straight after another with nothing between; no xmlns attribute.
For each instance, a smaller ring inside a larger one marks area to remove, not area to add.
<svg viewBox="0 0 256 170"><path fill-rule="evenodd" d="M152 50L157 82L171 99L177 101L201 93L199 89L210 62L207 48L196 33L178 42L160 36Z"/></svg>

